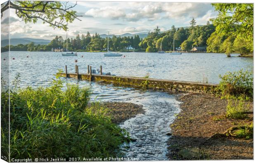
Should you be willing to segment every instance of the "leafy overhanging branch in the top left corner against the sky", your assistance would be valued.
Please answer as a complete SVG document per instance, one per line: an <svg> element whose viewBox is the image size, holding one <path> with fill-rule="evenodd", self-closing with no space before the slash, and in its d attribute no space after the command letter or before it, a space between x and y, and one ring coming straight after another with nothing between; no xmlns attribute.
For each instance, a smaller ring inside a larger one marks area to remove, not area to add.
<svg viewBox="0 0 256 163"><path fill-rule="evenodd" d="M67 31L68 24L79 17L76 11L71 10L75 6L61 1L8 1L1 6L1 18L3 12L10 8L15 9L15 14L25 23L36 23L40 19L54 29Z"/></svg>

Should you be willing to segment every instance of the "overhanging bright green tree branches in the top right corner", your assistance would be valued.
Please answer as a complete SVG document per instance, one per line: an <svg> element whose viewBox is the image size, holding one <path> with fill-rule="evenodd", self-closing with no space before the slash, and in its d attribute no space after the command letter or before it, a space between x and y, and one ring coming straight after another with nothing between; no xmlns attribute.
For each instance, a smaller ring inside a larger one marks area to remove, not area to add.
<svg viewBox="0 0 256 163"><path fill-rule="evenodd" d="M254 4L213 3L212 5L218 11L217 18L212 19L213 25L216 26L216 33L237 35L238 39L245 43L241 48L250 49L250 53L253 54ZM233 45L238 45L239 40ZM227 40L225 45L228 43ZM235 49L238 50L239 47Z"/></svg>

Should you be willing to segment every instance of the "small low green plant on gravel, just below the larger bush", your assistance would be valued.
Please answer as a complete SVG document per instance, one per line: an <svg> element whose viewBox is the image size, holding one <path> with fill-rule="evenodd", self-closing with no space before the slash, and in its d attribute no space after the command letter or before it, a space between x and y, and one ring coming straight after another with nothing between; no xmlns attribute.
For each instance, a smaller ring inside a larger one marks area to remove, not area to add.
<svg viewBox="0 0 256 163"><path fill-rule="evenodd" d="M245 106L243 100L234 100L234 104L231 100L229 100L226 117L230 119L244 119L247 117L247 114L244 114L244 112L248 110L248 106Z"/></svg>

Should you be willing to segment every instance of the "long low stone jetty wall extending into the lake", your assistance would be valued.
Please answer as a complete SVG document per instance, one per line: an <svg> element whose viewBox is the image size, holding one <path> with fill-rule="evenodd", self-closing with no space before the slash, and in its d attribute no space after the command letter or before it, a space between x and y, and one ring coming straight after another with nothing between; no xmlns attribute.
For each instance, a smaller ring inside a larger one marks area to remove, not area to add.
<svg viewBox="0 0 256 163"><path fill-rule="evenodd" d="M90 73L60 73L60 76L68 78L78 78L88 81L100 81L114 85L150 88L154 90L164 90L167 92L204 92L215 93L217 84L187 82L177 80L163 80L153 78L137 78L126 76L109 76Z"/></svg>

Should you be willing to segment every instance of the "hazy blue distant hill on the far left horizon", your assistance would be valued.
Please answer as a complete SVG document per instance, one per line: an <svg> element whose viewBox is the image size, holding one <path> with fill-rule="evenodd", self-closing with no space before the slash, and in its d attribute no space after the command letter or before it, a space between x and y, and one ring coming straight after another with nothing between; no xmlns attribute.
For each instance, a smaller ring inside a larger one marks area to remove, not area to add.
<svg viewBox="0 0 256 163"><path fill-rule="evenodd" d="M18 45L18 44L29 44L29 43L35 43L35 45L47 45L51 42L51 40L44 40L44 39L37 39L37 38L11 38L10 44L11 45ZM9 44L9 40L1 40L1 47L5 47L6 45Z"/></svg>

